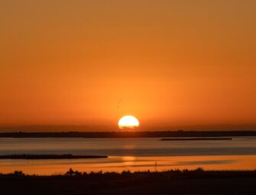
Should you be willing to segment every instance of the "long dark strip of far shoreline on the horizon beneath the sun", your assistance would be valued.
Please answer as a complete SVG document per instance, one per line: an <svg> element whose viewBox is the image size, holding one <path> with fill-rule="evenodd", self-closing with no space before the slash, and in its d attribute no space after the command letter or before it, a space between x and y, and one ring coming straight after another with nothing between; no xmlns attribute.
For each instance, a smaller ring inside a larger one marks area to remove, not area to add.
<svg viewBox="0 0 256 195"><path fill-rule="evenodd" d="M234 137L256 136L256 131L137 131L137 132L16 132L0 133L11 138L135 138L135 137Z"/></svg>

